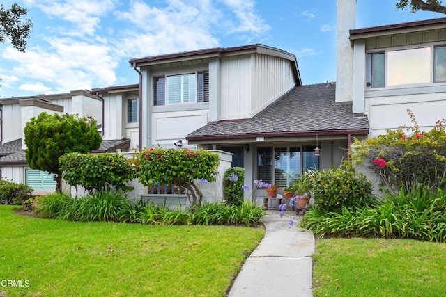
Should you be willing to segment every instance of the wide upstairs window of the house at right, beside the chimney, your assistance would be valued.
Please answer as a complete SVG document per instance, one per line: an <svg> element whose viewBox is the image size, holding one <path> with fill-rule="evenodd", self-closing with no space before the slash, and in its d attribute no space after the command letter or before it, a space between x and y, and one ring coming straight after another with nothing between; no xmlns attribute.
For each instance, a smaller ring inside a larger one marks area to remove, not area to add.
<svg viewBox="0 0 446 297"><path fill-rule="evenodd" d="M366 59L367 88L446 81L446 46L367 53Z"/></svg>

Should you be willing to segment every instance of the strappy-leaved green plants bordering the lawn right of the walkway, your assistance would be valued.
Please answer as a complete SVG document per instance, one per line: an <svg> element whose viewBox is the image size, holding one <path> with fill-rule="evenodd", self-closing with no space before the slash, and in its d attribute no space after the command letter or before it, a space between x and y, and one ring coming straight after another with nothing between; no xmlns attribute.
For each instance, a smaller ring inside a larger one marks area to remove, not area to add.
<svg viewBox="0 0 446 297"><path fill-rule="evenodd" d="M446 194L419 185L387 192L376 205L325 213L310 209L301 226L318 236L367 236L446 242Z"/></svg>

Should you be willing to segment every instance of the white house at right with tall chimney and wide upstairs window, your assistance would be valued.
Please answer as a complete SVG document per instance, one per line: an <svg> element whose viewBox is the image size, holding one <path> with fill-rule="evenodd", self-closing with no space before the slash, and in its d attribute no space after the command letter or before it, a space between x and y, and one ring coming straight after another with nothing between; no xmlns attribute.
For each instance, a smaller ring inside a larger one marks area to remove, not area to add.
<svg viewBox="0 0 446 297"><path fill-rule="evenodd" d="M367 115L369 137L446 118L446 18L355 29L355 0L338 1L337 101Z"/></svg>

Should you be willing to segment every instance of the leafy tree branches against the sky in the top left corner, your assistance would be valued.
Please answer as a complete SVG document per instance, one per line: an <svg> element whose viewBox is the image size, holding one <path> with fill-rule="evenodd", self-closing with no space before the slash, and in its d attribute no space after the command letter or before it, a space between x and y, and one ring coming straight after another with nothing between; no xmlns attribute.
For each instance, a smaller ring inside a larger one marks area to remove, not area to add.
<svg viewBox="0 0 446 297"><path fill-rule="evenodd" d="M13 4L11 8L4 8L0 4L0 42L10 40L17 51L25 51L26 39L33 28L30 19L23 19L28 10Z"/></svg>

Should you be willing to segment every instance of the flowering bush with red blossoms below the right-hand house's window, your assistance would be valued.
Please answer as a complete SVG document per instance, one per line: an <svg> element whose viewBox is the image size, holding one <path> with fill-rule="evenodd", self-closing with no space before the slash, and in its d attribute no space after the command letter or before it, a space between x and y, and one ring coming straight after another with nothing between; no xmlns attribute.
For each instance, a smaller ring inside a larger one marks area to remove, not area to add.
<svg viewBox="0 0 446 297"><path fill-rule="evenodd" d="M402 126L376 138L356 140L351 162L368 164L394 192L399 188L409 191L416 184L445 189L445 119L438 120L431 131L422 132L415 115L410 110L408 114L413 127Z"/></svg>

